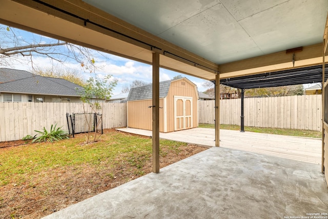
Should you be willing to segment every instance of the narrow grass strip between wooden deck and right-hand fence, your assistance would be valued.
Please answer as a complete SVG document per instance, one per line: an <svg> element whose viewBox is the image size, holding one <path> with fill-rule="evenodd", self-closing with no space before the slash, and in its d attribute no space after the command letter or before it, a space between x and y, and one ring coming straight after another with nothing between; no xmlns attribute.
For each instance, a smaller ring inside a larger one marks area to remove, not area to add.
<svg viewBox="0 0 328 219"><path fill-rule="evenodd" d="M199 124L199 128L213 128L214 124ZM240 126L237 125L220 125L220 129L228 130L240 130ZM244 131L267 133L267 134L280 134L300 137L315 137L321 138L322 133L320 131L300 130L300 129L278 129L278 128L257 128L257 127L244 127Z"/></svg>

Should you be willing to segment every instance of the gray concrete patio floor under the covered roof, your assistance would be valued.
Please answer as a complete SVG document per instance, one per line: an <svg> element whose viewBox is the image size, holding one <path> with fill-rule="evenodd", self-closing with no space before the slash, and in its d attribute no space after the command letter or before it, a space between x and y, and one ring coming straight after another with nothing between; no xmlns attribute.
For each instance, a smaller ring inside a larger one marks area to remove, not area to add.
<svg viewBox="0 0 328 219"><path fill-rule="evenodd" d="M45 218L305 218L309 213L328 213L320 165L212 147Z"/></svg>

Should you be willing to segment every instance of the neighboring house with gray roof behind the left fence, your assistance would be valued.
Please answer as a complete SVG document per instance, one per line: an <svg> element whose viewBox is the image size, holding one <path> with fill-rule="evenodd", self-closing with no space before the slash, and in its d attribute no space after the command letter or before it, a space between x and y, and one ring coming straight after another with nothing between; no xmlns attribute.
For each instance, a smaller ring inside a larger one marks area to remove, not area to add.
<svg viewBox="0 0 328 219"><path fill-rule="evenodd" d="M0 102L80 103L80 89L65 79L0 68Z"/></svg>

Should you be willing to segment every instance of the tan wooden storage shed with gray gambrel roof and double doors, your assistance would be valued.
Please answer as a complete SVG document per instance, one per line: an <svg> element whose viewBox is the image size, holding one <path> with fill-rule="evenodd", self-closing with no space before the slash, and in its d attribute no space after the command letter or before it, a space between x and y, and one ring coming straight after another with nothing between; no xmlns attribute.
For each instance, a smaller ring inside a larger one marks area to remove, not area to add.
<svg viewBox="0 0 328 219"><path fill-rule="evenodd" d="M197 86L186 77L159 83L159 131L198 127ZM135 87L128 99L128 127L152 130L152 85Z"/></svg>

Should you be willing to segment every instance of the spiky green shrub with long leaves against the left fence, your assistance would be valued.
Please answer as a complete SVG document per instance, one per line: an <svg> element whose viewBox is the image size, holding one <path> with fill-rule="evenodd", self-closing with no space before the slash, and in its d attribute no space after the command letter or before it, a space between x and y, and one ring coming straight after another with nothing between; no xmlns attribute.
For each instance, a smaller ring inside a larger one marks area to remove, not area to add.
<svg viewBox="0 0 328 219"><path fill-rule="evenodd" d="M47 131L45 127L43 127L43 131L37 131L38 132L36 138L32 141L34 142L53 142L53 141L59 141L63 140L64 138L68 138L68 133L61 129L61 127L56 128L57 124L55 126L51 125L50 131Z"/></svg>

